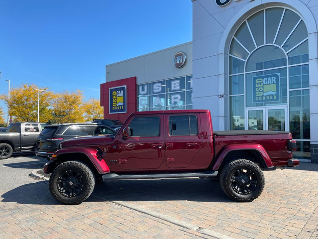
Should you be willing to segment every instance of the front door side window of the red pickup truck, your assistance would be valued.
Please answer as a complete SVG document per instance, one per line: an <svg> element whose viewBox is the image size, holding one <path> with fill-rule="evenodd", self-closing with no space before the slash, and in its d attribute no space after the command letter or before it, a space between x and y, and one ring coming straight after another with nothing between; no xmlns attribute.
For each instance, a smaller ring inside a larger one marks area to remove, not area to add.
<svg viewBox="0 0 318 239"><path fill-rule="evenodd" d="M136 117L129 126L131 136L154 137L160 135L159 117Z"/></svg>

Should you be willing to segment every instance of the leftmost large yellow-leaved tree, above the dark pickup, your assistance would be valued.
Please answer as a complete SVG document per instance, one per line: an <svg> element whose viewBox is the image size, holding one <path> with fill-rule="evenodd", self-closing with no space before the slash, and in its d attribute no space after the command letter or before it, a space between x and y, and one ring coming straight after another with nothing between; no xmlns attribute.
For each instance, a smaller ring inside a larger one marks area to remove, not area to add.
<svg viewBox="0 0 318 239"><path fill-rule="evenodd" d="M24 84L10 90L10 101L7 95L0 95L9 106L9 115L13 121L37 121L38 112L38 91L34 89L44 90L40 92L40 122L47 122L51 119L50 105L52 102L52 92L49 88L41 88L34 84Z"/></svg>

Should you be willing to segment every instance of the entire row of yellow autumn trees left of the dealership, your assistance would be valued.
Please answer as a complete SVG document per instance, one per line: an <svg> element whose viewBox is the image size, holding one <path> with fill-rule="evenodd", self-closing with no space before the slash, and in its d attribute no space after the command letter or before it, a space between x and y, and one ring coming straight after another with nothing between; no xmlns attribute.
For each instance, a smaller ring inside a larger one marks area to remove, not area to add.
<svg viewBox="0 0 318 239"><path fill-rule="evenodd" d="M38 91L40 89L39 121L49 123L71 123L92 121L103 118L103 108L98 100L89 99L83 104L81 91L53 93L48 88L34 84L24 84L10 89L10 101L7 94L0 95L9 106L9 115L13 121L37 121ZM4 123L3 109L0 108L0 123Z"/></svg>

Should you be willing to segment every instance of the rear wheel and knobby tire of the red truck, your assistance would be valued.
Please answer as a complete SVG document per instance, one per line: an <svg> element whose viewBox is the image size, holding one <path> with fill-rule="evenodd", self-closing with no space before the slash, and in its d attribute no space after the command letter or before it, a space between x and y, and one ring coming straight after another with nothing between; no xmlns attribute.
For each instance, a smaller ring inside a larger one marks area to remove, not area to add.
<svg viewBox="0 0 318 239"><path fill-rule="evenodd" d="M254 162L236 159L221 170L220 184L223 191L234 201L251 202L262 193L265 178Z"/></svg>

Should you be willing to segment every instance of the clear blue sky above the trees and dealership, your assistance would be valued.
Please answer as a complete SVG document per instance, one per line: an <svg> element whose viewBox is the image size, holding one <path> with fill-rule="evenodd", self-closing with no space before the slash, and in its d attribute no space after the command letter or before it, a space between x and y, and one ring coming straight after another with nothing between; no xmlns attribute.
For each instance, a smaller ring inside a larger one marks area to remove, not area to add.
<svg viewBox="0 0 318 239"><path fill-rule="evenodd" d="M191 0L1 0L0 94L9 79L99 99L105 65L191 40Z"/></svg>

